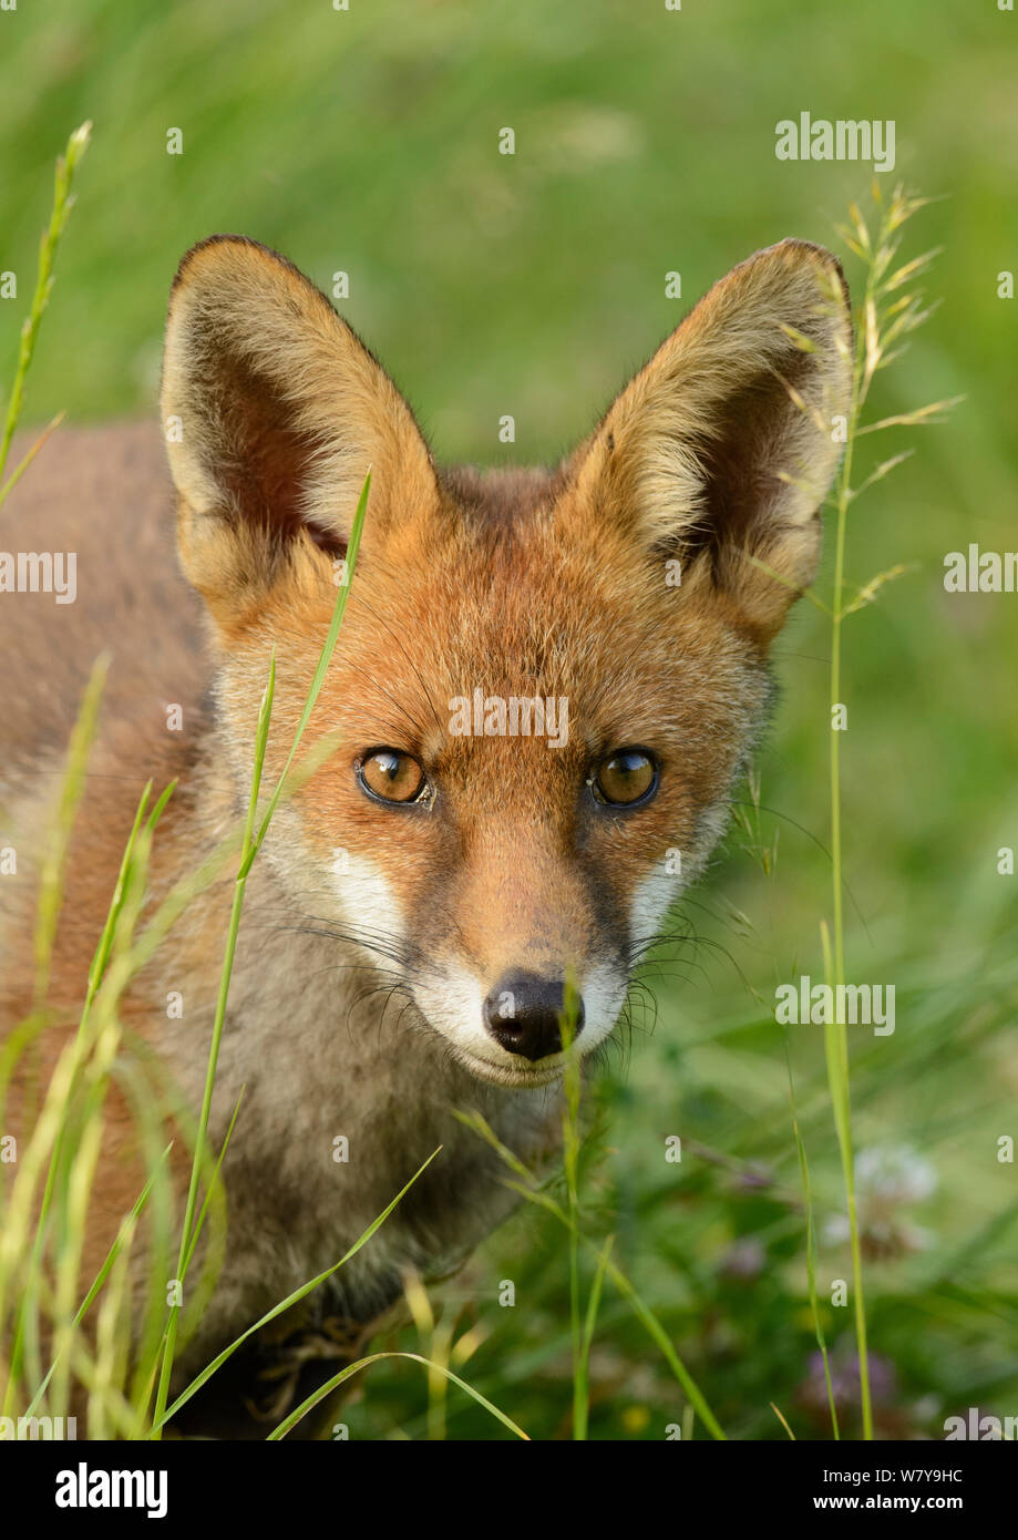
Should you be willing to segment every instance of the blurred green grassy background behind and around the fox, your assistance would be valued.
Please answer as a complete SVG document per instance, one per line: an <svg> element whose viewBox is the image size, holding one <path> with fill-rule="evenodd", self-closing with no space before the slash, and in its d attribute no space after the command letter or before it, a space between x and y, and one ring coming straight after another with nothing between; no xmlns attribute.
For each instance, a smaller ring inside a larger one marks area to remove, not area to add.
<svg viewBox="0 0 1018 1540"><path fill-rule="evenodd" d="M214 231L285 251L413 402L440 459L553 459L728 266L782 236L832 245L862 165L775 157L779 119L893 119L899 177L938 196L906 254L943 246L939 302L878 377L870 416L963 394L944 425L862 440L915 456L852 510L849 578L909 573L846 627L849 976L895 983L890 1038L850 1029L869 1226L878 1428L943 1437L969 1404L1018 1414L1015 886L1018 596L946 594L943 559L1015 547L1018 17L949 0L49 0L0 12L0 367L9 379L51 168L94 122L28 393L29 420L152 413L165 300ZM516 134L513 157L499 129ZM180 129L183 154L166 154ZM665 297L665 274L682 299ZM847 260L850 280L858 270ZM516 444L497 422L516 419ZM60 453L59 436L46 447ZM29 473L31 474L31 473ZM830 582L830 564L819 579ZM602 1080L591 1234L661 1312L727 1431L829 1437L812 1352L785 1041L773 987L821 973L830 912L824 618L799 605L752 830L733 830L647 970L631 1053ZM745 795L745 793L741 793ZM776 865L762 870L761 847ZM821 1033L792 1029L818 1200L819 1284L849 1277ZM665 1163L667 1135L687 1141ZM867 1175L869 1173L869 1175ZM565 1254L525 1214L436 1292L484 1337L467 1372L534 1437L568 1432ZM516 1307L497 1283L516 1283ZM850 1309L825 1329L853 1431ZM405 1332L404 1344L413 1340ZM354 1437L424 1435L425 1392L379 1366ZM593 1437L662 1438L684 1398L611 1295L593 1358ZM496 1437L453 1394L450 1437Z"/></svg>

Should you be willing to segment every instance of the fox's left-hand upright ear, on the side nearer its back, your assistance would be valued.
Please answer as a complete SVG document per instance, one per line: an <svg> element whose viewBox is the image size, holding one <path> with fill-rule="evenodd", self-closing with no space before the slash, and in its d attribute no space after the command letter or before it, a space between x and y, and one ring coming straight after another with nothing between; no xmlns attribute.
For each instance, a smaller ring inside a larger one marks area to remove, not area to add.
<svg viewBox="0 0 1018 1540"><path fill-rule="evenodd" d="M185 571L223 624L280 570L342 554L368 467L370 521L434 497L410 407L330 302L240 236L194 246L169 296L162 417ZM311 564L311 565L310 565Z"/></svg>

